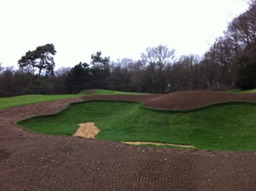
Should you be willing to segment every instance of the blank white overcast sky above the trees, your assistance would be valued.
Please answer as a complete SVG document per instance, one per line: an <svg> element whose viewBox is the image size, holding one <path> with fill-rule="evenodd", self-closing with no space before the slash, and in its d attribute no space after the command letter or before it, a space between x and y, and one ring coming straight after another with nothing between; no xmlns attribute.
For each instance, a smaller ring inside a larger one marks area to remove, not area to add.
<svg viewBox="0 0 256 191"><path fill-rule="evenodd" d="M247 9L242 0L0 0L0 62L18 66L28 50L53 43L56 68L139 59L160 44L200 56L227 23Z"/></svg>

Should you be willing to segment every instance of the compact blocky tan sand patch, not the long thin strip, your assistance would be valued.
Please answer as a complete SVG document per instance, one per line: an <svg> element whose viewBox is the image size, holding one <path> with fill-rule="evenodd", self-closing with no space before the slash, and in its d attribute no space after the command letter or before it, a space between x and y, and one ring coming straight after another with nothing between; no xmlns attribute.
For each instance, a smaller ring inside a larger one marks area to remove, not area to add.
<svg viewBox="0 0 256 191"><path fill-rule="evenodd" d="M98 134L99 129L94 125L94 122L78 123L79 128L74 133L73 137L94 138Z"/></svg>

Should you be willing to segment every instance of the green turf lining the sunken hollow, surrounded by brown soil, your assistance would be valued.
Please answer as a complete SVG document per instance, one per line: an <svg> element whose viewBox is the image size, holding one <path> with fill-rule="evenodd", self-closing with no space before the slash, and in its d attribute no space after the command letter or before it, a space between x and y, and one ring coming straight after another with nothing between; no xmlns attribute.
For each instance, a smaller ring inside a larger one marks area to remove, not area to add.
<svg viewBox="0 0 256 191"><path fill-rule="evenodd" d="M208 150L256 150L256 106L229 104L189 113L145 109L138 102L86 101L52 116L18 121L37 133L72 135L94 121L98 139L194 145Z"/></svg>

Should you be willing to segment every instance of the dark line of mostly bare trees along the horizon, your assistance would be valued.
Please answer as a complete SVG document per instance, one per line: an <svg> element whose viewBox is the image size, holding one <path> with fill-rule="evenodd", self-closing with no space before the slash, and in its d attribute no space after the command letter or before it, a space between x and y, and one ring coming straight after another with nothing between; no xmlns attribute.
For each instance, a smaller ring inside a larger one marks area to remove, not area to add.
<svg viewBox="0 0 256 191"><path fill-rule="evenodd" d="M164 94L178 90L256 88L256 1L234 18L202 57L177 58L174 49L146 48L139 60L110 62L98 51L90 63L54 70L53 44L38 46L18 60L18 70L0 64L0 95L76 94L107 89Z"/></svg>

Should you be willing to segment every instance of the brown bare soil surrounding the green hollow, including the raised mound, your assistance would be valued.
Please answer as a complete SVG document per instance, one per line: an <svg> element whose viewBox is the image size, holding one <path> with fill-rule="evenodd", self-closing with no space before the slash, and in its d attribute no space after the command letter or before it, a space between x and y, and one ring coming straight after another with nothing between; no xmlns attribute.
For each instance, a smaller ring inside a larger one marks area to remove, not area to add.
<svg viewBox="0 0 256 191"><path fill-rule="evenodd" d="M180 92L92 96L0 110L0 190L255 190L256 152L147 148L91 138L50 136L15 121L58 113L74 101L142 101L191 109L219 101L256 101L256 94Z"/></svg>

